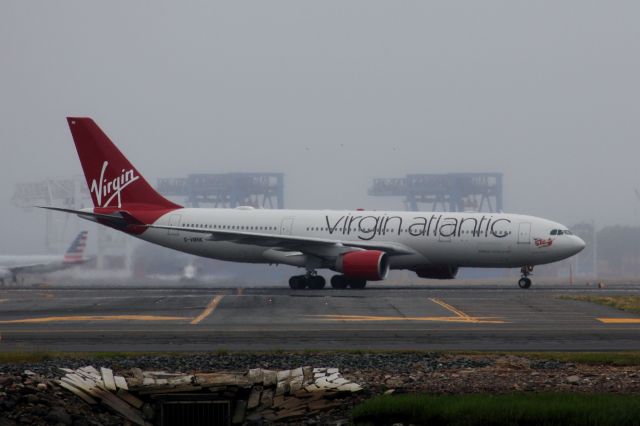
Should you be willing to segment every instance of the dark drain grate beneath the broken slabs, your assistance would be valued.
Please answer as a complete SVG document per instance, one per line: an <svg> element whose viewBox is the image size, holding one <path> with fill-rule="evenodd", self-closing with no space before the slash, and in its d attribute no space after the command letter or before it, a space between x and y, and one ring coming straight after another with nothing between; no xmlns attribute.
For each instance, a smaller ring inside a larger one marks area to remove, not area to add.
<svg viewBox="0 0 640 426"><path fill-rule="evenodd" d="M160 402L160 426L229 426L231 403L207 400L164 400Z"/></svg>

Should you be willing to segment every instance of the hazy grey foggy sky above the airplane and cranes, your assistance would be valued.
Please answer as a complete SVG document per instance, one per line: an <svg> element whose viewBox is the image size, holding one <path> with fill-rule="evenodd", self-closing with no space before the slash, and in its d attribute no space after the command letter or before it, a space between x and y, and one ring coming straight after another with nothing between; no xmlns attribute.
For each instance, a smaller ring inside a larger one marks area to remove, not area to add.
<svg viewBox="0 0 640 426"><path fill-rule="evenodd" d="M639 17L635 1L3 1L0 252L42 247L16 182L81 172L67 115L152 183L283 171L287 207L401 209L367 196L373 177L499 171L509 212L636 224Z"/></svg>

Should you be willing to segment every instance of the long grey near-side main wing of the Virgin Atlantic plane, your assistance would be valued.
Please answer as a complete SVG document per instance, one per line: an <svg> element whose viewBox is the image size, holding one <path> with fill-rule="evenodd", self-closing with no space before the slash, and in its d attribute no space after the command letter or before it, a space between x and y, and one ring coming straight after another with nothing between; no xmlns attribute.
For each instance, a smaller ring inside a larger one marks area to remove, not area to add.
<svg viewBox="0 0 640 426"><path fill-rule="evenodd" d="M264 247L315 252L316 248L350 247L364 250L380 250L390 256L415 254L416 252L404 244L384 241L344 241L330 238L298 237L294 235L274 235L257 232L223 231L217 229L187 228L182 226L144 225L147 228L166 229L171 231L193 232L209 235L211 241L229 241L239 244L252 244Z"/></svg>

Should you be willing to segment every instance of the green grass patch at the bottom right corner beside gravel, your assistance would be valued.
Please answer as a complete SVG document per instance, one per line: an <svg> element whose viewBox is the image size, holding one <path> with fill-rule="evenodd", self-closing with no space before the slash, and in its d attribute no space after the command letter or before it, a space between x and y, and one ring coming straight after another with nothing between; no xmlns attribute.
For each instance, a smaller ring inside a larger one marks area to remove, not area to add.
<svg viewBox="0 0 640 426"><path fill-rule="evenodd" d="M356 425L637 425L640 396L566 393L385 395L354 408Z"/></svg>

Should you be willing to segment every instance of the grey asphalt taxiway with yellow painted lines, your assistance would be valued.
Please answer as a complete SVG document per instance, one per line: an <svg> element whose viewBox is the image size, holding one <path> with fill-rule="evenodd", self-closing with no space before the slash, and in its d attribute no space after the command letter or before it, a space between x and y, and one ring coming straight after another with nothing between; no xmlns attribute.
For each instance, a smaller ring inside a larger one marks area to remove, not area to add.
<svg viewBox="0 0 640 426"><path fill-rule="evenodd" d="M0 289L0 351L640 350L640 316L502 285Z"/></svg>

